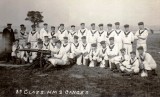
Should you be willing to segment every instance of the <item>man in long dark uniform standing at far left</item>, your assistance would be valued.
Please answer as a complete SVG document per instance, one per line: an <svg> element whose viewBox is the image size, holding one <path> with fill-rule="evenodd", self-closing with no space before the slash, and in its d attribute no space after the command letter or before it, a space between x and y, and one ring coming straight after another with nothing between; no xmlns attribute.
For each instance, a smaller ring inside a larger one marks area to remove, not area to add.
<svg viewBox="0 0 160 97"><path fill-rule="evenodd" d="M12 45L15 41L14 32L11 26L12 24L7 24L7 28L5 28L2 33L6 62L11 60Z"/></svg>

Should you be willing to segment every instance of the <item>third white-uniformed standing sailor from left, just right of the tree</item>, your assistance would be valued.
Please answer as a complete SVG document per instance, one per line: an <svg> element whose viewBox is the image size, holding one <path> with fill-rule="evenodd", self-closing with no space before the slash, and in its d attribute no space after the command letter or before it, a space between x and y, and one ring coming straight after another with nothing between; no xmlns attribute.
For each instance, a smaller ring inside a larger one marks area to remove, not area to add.
<svg viewBox="0 0 160 97"><path fill-rule="evenodd" d="M44 23L44 28L42 28L39 32L39 38L42 39L42 41L44 41L44 36L50 36L50 32L48 30L48 24Z"/></svg>

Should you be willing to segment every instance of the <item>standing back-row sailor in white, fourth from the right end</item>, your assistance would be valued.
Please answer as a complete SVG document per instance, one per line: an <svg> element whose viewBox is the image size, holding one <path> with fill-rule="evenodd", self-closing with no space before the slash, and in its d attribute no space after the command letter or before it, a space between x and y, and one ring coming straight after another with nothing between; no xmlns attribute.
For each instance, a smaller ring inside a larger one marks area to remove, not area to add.
<svg viewBox="0 0 160 97"><path fill-rule="evenodd" d="M112 24L107 24L106 43L109 45L109 38L115 37L115 31L112 29Z"/></svg>

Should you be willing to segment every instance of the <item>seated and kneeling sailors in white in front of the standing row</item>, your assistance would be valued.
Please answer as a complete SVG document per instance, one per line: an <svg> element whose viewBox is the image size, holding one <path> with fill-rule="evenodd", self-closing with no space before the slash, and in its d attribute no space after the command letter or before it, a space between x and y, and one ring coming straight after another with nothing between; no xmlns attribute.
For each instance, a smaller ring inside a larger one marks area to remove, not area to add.
<svg viewBox="0 0 160 97"><path fill-rule="evenodd" d="M78 36L74 36L73 43L68 43L67 37L64 37L63 43L53 37L51 42L47 38L44 42L39 39L34 47L39 50L51 51L51 54L44 58L48 63L43 64L45 70L57 65L69 65L71 60L76 60L77 65L100 66L101 68L110 68L113 72L129 75L141 73L142 77L147 77L150 74L156 74L156 62L149 53L144 51L143 47L137 48L139 55L136 55L134 51L126 54L124 48L120 50L119 54L114 37L109 38L109 41L109 45L105 41L101 41L101 48L97 48L95 43L88 44L85 36L82 37L82 43L78 42ZM16 40L12 48L13 59L17 57L26 63L33 63L40 57L37 52L19 51L21 48ZM31 49L31 43L27 43L25 48Z"/></svg>

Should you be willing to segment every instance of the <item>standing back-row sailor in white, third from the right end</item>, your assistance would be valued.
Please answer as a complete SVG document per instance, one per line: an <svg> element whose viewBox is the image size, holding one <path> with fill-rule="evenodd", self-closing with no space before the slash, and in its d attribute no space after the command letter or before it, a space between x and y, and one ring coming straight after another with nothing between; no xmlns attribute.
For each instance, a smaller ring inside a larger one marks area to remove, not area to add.
<svg viewBox="0 0 160 97"><path fill-rule="evenodd" d="M123 37L124 37L124 32L120 29L120 23L116 22L115 23L115 43L118 45L118 50L120 53L120 49L123 48Z"/></svg>

